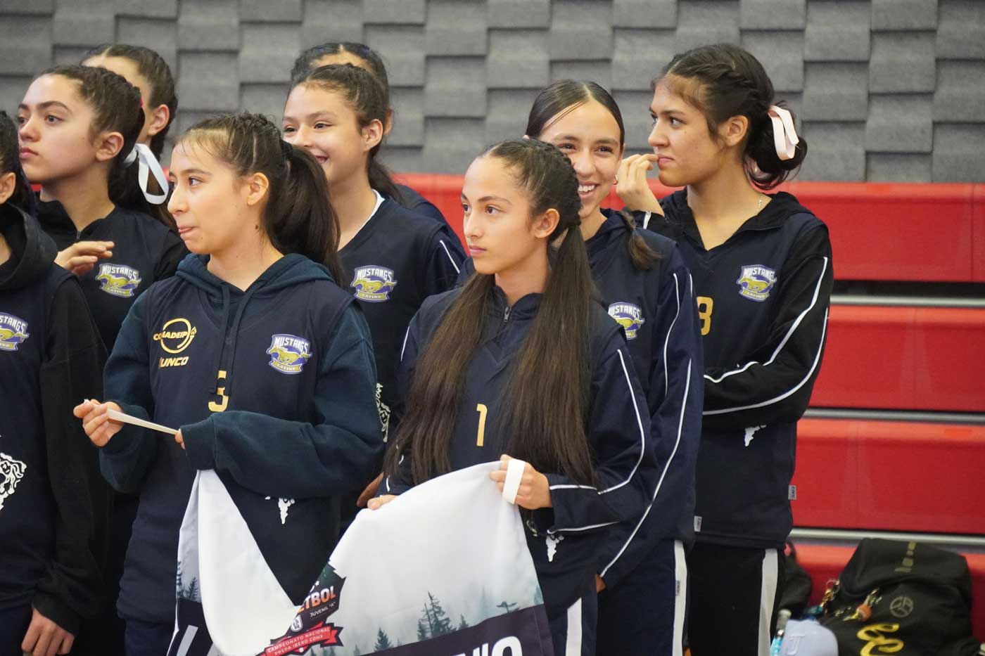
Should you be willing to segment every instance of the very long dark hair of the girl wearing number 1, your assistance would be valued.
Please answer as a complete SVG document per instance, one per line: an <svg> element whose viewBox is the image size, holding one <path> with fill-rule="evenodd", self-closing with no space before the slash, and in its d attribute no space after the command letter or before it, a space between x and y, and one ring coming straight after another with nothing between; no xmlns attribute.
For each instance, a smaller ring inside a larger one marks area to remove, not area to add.
<svg viewBox="0 0 985 656"><path fill-rule="evenodd" d="M507 413L502 426L510 435L507 451L540 472L590 485L595 477L585 424L593 284L579 229L577 174L563 153L535 139L504 141L480 157L495 158L512 171L527 191L531 220L550 209L560 217L548 239L552 267L547 288L502 403ZM550 244L565 230L554 250ZM407 416L387 456L388 472L396 472L398 449L411 454L416 484L450 471L466 363L479 346L485 321L492 320L493 287L494 276L472 276L427 345L411 383Z"/></svg>

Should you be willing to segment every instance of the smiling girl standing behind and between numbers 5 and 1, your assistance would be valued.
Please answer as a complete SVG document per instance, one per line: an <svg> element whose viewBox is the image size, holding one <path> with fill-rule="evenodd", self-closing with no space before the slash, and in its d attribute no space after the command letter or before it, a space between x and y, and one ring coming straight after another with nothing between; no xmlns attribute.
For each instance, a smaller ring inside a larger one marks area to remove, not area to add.
<svg viewBox="0 0 985 656"><path fill-rule="evenodd" d="M360 301L372 331L384 434L407 324L427 296L454 287L465 259L447 224L393 200L393 182L376 160L387 110L372 73L333 64L295 78L283 124L284 139L317 160L328 180L341 229L339 285ZM356 502L344 503L344 518L355 516Z"/></svg>

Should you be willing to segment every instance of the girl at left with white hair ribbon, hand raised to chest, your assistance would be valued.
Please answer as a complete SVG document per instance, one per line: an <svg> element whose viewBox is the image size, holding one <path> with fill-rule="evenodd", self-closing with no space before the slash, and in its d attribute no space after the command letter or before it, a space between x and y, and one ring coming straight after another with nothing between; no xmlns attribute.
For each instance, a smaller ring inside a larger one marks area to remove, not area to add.
<svg viewBox="0 0 985 656"><path fill-rule="evenodd" d="M21 163L41 186L38 221L59 248L55 261L79 277L107 350L133 302L187 254L164 223L131 209L143 193L128 160L144 127L140 105L116 73L57 66L17 110Z"/></svg>

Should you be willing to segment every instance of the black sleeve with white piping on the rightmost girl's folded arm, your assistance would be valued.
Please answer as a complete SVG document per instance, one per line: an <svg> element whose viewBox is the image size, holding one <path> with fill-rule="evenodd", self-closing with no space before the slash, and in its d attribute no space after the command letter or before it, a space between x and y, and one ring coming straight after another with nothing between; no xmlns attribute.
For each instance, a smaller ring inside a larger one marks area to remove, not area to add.
<svg viewBox="0 0 985 656"><path fill-rule="evenodd" d="M800 235L780 272L777 312L764 346L749 361L704 372L704 426L796 422L821 368L833 285L823 224Z"/></svg>

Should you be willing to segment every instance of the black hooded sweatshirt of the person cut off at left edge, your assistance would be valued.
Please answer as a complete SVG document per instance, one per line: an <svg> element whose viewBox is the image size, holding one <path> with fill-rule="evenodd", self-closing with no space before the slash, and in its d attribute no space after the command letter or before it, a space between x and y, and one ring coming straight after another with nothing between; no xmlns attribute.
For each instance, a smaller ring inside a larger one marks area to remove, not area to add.
<svg viewBox="0 0 985 656"><path fill-rule="evenodd" d="M0 610L71 633L101 611L109 489L72 408L102 393L105 351L75 277L34 219L0 206Z"/></svg>

